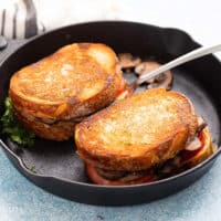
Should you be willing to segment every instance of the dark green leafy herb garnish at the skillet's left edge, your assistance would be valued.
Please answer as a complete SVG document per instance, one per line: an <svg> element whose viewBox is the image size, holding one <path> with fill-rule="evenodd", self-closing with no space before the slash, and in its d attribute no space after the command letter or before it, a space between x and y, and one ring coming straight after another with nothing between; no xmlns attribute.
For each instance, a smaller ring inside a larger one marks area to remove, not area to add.
<svg viewBox="0 0 221 221"><path fill-rule="evenodd" d="M1 133L10 137L10 139L22 146L33 146L35 135L21 127L13 116L11 98L7 97L4 101L6 112L0 118Z"/></svg>

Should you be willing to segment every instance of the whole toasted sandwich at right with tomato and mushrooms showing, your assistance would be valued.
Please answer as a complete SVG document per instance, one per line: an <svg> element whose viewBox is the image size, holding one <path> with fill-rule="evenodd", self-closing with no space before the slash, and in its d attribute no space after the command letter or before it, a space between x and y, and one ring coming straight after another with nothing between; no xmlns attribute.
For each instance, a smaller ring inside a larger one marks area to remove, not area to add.
<svg viewBox="0 0 221 221"><path fill-rule="evenodd" d="M212 152L209 128L182 94L152 88L85 118L77 154L97 185L150 182L190 168Z"/></svg>

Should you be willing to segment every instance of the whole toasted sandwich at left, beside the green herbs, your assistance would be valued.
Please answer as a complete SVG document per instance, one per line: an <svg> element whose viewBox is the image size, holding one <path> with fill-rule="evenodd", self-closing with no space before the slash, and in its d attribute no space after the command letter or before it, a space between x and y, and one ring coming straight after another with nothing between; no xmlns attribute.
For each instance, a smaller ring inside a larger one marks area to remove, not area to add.
<svg viewBox="0 0 221 221"><path fill-rule="evenodd" d="M52 140L73 137L76 123L108 106L124 91L115 52L74 43L14 73L9 96L19 123Z"/></svg>

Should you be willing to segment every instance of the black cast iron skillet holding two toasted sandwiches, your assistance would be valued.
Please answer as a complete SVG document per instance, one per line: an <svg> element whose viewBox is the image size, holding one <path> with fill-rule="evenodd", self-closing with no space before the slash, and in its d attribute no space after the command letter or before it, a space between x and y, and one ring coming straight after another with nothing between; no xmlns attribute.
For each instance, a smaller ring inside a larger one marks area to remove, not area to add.
<svg viewBox="0 0 221 221"><path fill-rule="evenodd" d="M73 42L103 42L117 53L129 52L141 57L154 56L168 62L200 44L176 29L105 21L70 25L36 36L9 52L0 63L0 113L8 93L10 76L20 67L42 59ZM4 51L6 52L6 51ZM212 55L172 70L172 90L182 92L194 104L210 127L214 143L220 145L221 64ZM33 148L20 148L1 135L0 144L18 170L36 186L74 201L123 206L148 202L175 193L204 175L221 152L177 176L146 185L102 187L87 180L82 160L75 154L74 141L55 143L38 139Z"/></svg>

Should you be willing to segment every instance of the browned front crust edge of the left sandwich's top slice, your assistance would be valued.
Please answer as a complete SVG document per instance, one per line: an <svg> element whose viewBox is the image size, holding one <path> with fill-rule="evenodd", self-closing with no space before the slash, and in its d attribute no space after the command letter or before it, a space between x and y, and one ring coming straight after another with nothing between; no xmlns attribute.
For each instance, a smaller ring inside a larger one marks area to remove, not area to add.
<svg viewBox="0 0 221 221"><path fill-rule="evenodd" d="M76 104L74 104L73 101L72 103L63 104L39 104L19 97L13 91L10 91L9 93L17 109L25 112L28 115L33 115L45 122L48 119L66 120L90 115L110 104L117 97L118 87L122 85L122 82L124 82L122 76L116 74L113 83L104 88L102 93Z"/></svg>

